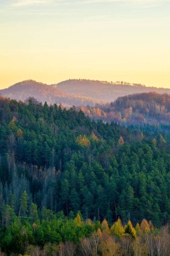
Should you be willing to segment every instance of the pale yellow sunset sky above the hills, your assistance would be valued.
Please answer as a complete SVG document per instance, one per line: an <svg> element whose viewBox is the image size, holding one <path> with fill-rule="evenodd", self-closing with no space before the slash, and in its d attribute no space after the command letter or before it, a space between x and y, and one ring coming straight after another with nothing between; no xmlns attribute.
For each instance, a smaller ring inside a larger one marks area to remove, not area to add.
<svg viewBox="0 0 170 256"><path fill-rule="evenodd" d="M170 0L0 0L0 88L34 79L170 88Z"/></svg>

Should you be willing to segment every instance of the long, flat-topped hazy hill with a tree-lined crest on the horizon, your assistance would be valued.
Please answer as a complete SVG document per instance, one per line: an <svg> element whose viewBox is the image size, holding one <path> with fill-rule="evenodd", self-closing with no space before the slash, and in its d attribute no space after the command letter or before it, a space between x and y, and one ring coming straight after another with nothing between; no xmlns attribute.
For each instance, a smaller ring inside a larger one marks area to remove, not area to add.
<svg viewBox="0 0 170 256"><path fill-rule="evenodd" d="M79 96L85 96L103 100L104 102L112 102L118 97L129 94L139 94L142 92L157 92L159 94L170 94L170 89L146 87L140 84L130 84L126 82L101 82L86 79L70 79L54 85L58 90ZM96 101L96 100L95 100Z"/></svg>

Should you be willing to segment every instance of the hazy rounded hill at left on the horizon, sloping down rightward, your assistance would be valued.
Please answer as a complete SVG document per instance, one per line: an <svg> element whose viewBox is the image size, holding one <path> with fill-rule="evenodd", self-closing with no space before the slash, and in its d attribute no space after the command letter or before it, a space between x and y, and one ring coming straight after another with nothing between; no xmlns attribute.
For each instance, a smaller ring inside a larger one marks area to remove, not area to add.
<svg viewBox="0 0 170 256"><path fill-rule="evenodd" d="M105 103L103 100L95 100L94 98L70 94L64 90L60 90L54 86L36 82L34 80L26 80L10 86L7 89L0 90L0 95L15 100L26 100L34 97L38 102L47 102L48 104L63 104L65 106L94 106L97 102Z"/></svg>

